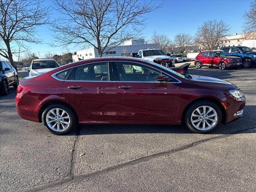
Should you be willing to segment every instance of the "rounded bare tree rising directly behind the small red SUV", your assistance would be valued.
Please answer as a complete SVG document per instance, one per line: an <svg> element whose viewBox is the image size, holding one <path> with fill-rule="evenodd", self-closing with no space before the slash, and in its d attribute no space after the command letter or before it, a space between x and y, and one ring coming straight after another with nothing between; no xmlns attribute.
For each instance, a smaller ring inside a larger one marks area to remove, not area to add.
<svg viewBox="0 0 256 192"><path fill-rule="evenodd" d="M204 50L213 50L228 36L230 27L222 20L209 20L198 27L196 42Z"/></svg>

